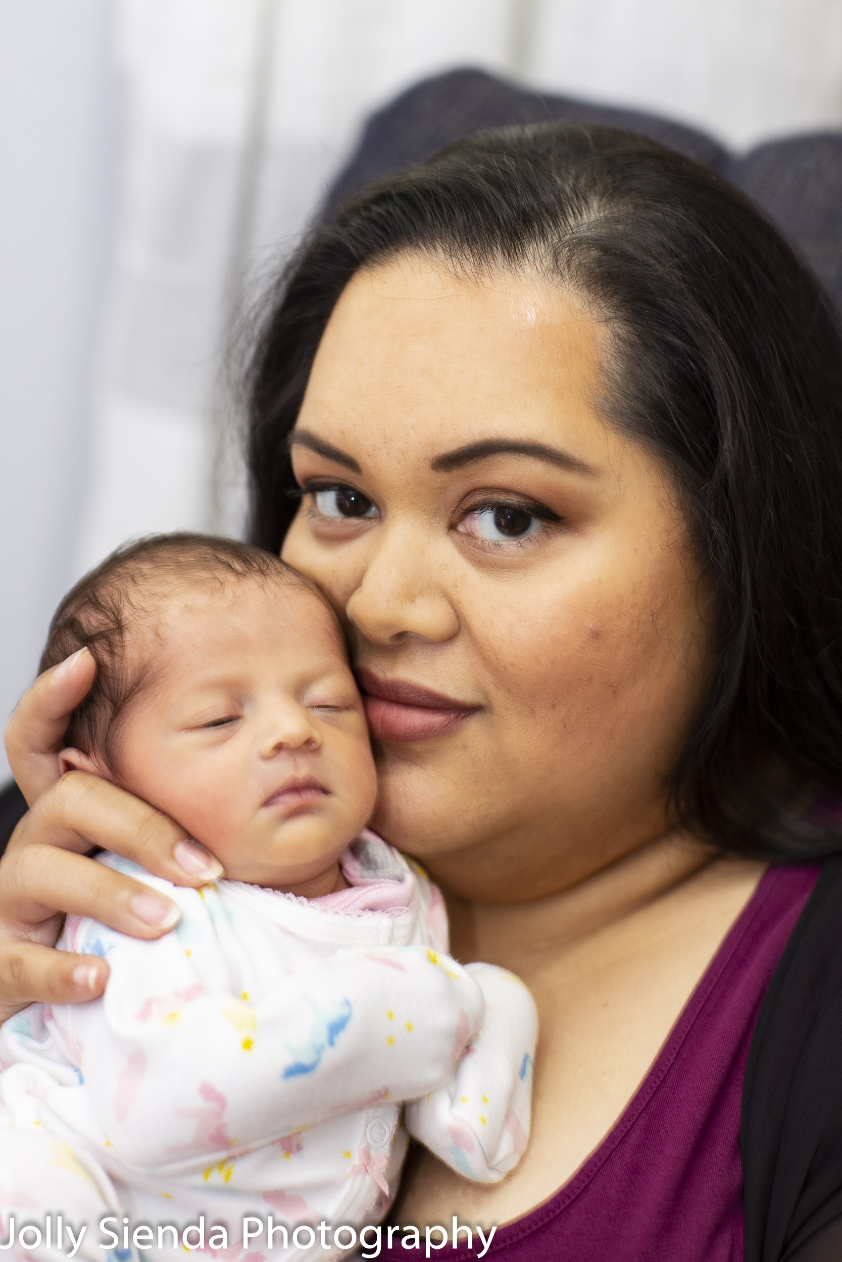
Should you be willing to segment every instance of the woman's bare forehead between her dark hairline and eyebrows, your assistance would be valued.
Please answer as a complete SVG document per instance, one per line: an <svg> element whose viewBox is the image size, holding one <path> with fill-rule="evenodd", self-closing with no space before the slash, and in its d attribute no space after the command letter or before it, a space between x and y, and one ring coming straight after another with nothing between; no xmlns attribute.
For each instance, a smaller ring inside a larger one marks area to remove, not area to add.
<svg viewBox="0 0 842 1262"><path fill-rule="evenodd" d="M428 458L516 437L605 449L598 414L606 332L533 274L463 276L401 256L359 273L313 363L297 429L337 447L370 435Z"/></svg>

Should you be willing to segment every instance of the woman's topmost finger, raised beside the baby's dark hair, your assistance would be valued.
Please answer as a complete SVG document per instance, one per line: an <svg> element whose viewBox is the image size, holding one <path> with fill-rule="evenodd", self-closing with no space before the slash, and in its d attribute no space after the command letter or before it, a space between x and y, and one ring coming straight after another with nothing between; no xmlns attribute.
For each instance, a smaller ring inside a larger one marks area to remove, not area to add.
<svg viewBox="0 0 842 1262"><path fill-rule="evenodd" d="M80 649L27 689L5 731L11 772L32 803L58 780L58 753L71 713L91 690L96 663Z"/></svg>

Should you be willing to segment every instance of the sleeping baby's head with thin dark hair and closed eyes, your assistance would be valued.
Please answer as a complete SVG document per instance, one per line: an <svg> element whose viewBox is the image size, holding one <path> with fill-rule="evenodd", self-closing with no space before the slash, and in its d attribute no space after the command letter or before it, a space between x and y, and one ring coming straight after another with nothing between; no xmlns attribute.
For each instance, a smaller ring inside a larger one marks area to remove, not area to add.
<svg viewBox="0 0 842 1262"><path fill-rule="evenodd" d="M145 539L64 597L40 669L81 647L97 674L62 770L172 815L232 880L308 891L335 870L376 780L342 632L308 579L228 539Z"/></svg>

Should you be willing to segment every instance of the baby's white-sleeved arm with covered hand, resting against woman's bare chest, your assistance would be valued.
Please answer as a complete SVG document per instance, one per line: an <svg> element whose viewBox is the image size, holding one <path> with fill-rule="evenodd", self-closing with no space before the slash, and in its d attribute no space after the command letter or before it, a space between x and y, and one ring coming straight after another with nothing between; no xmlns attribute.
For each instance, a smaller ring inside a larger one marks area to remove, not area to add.
<svg viewBox="0 0 842 1262"><path fill-rule="evenodd" d="M448 1083L406 1108L406 1128L458 1174L496 1182L529 1140L535 1005L513 973L468 964L485 1017Z"/></svg>

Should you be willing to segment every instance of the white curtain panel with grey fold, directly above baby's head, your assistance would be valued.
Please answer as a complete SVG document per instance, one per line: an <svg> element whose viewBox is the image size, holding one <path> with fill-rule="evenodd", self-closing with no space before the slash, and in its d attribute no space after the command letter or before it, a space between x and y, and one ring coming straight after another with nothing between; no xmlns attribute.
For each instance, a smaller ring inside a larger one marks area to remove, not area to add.
<svg viewBox="0 0 842 1262"><path fill-rule="evenodd" d="M432 71L510 69L511 0L121 0L125 199L82 572L150 529L237 530L220 348L374 105ZM217 406L215 408L215 401Z"/></svg>

